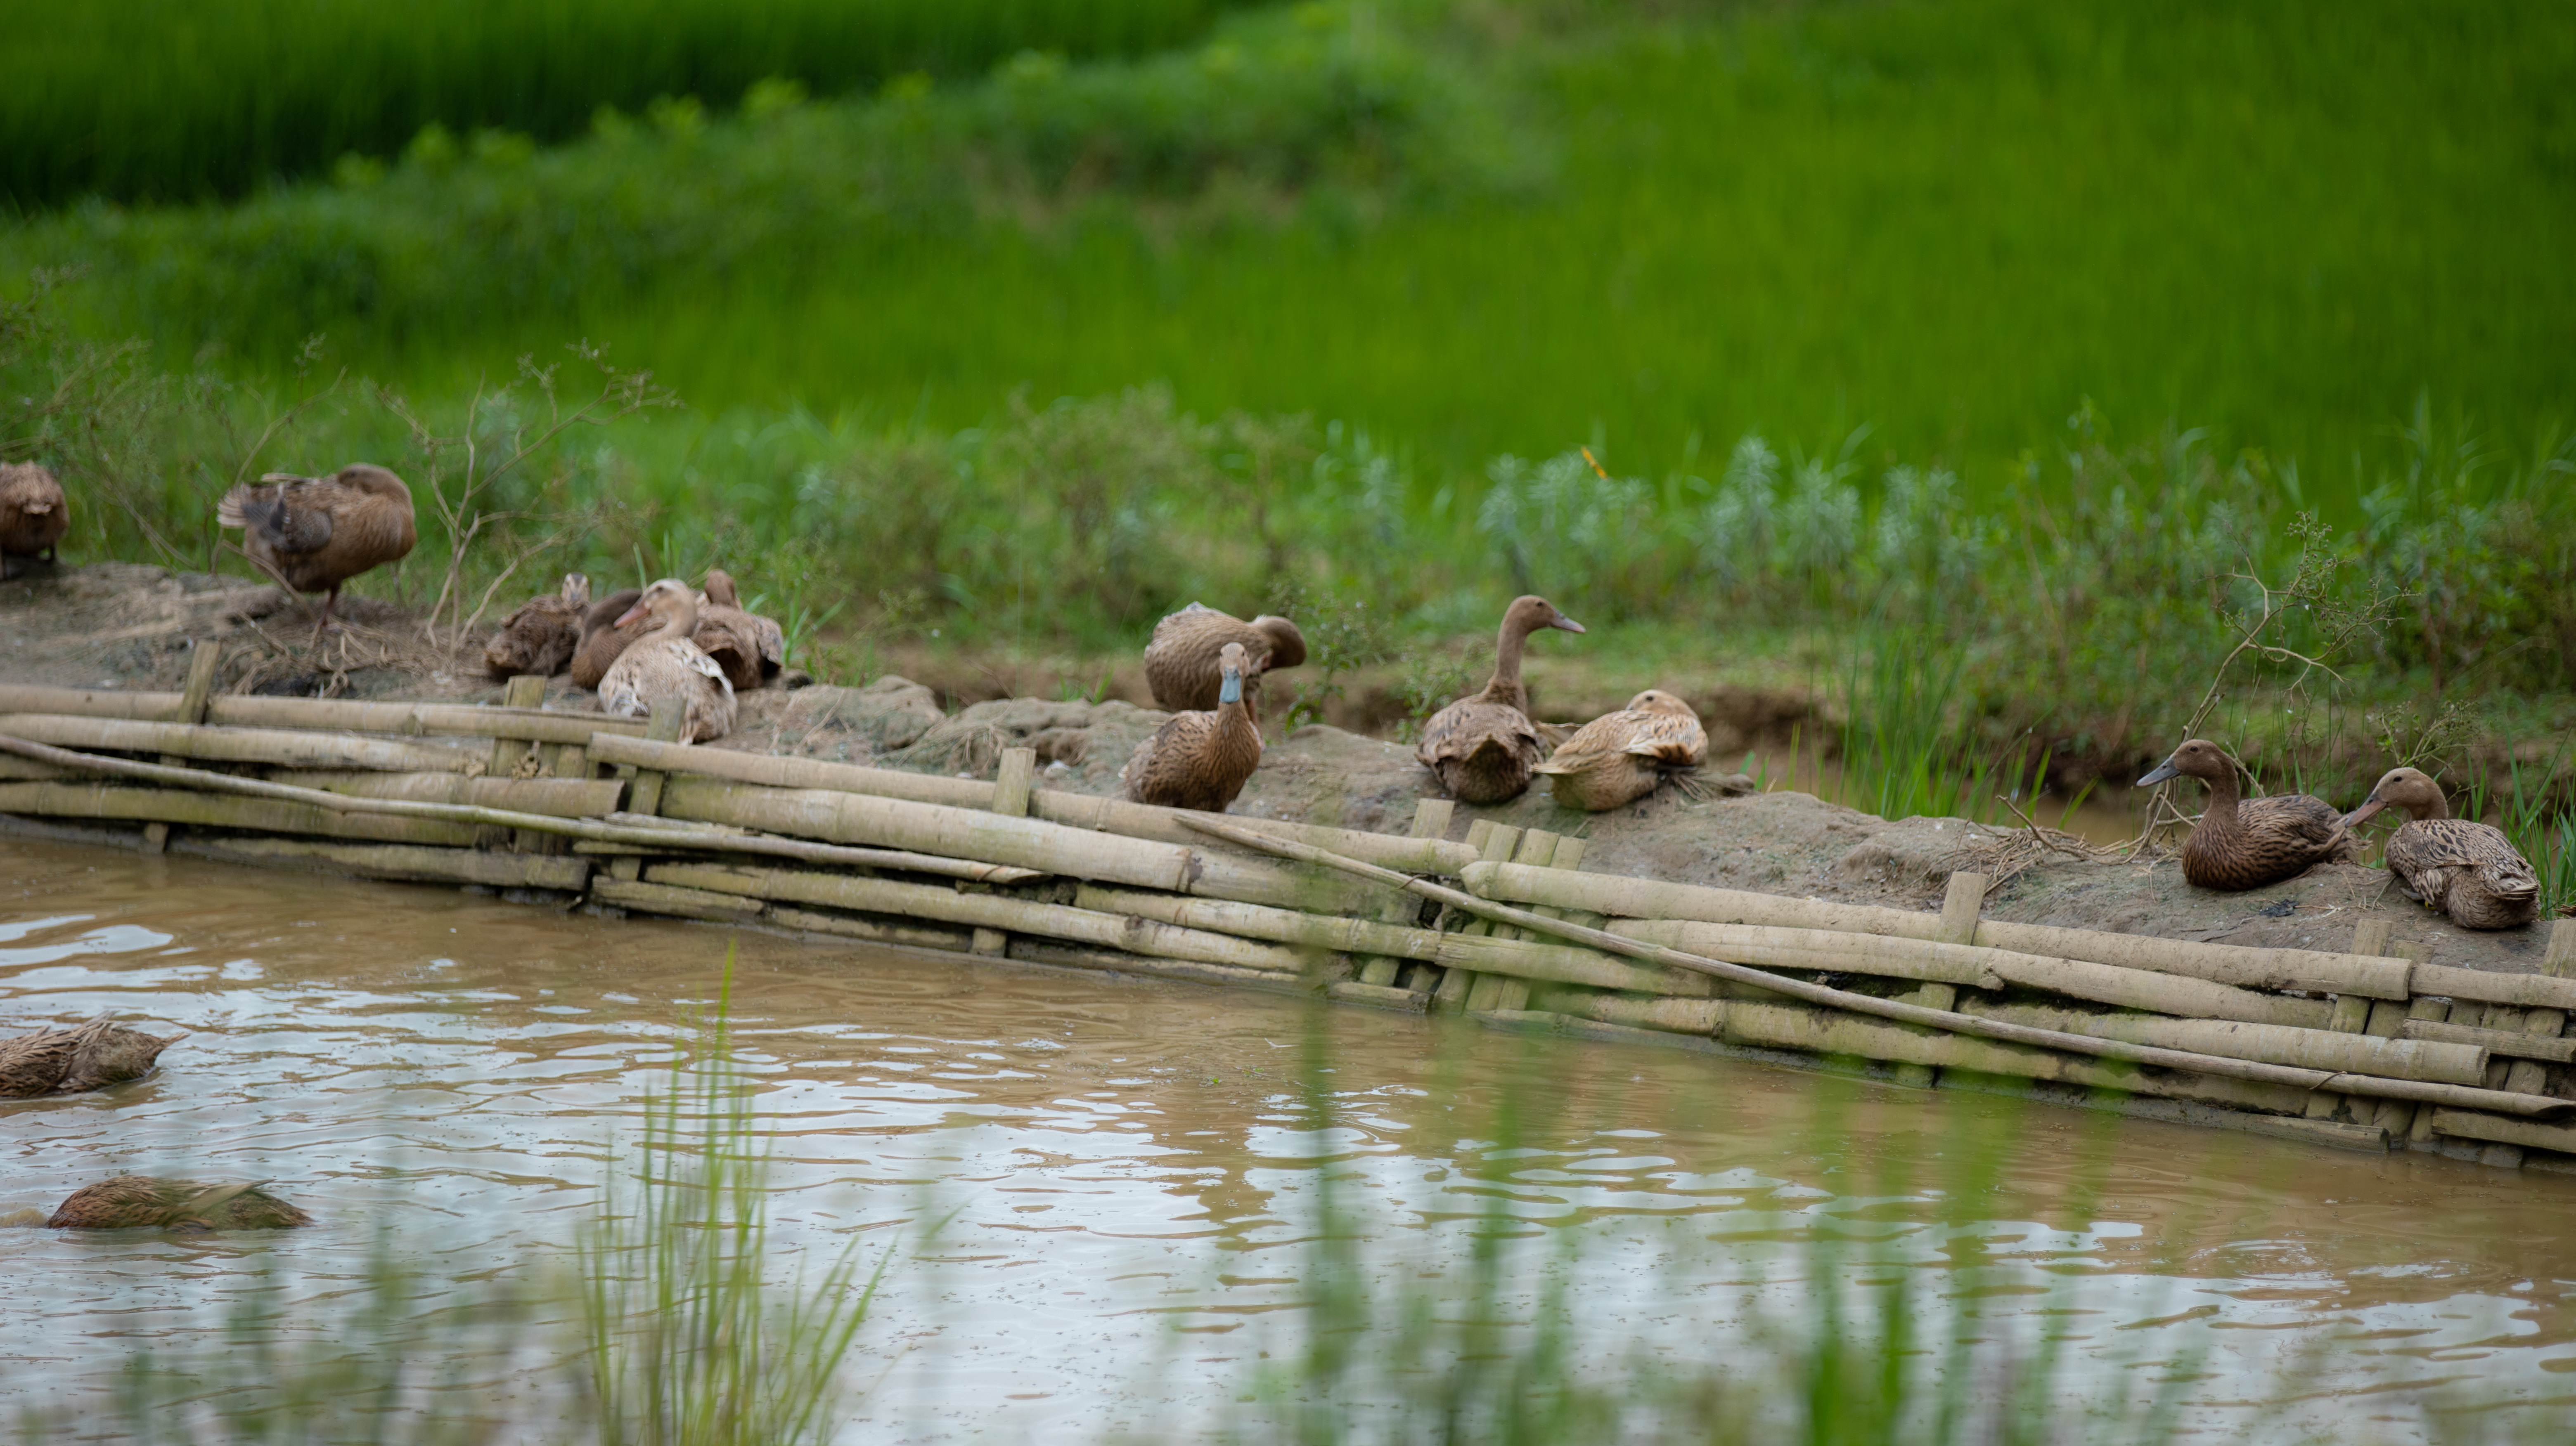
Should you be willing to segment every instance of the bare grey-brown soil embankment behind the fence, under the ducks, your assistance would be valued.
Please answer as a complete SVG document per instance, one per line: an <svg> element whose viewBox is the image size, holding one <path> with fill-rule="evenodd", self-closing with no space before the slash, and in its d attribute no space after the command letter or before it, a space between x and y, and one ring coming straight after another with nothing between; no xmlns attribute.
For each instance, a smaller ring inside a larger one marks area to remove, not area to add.
<svg viewBox="0 0 2576 1446"><path fill-rule="evenodd" d="M227 646L224 692L337 692L345 697L448 697L497 702L479 648L433 646L389 605L343 599L345 633L301 646L309 602L206 574L167 574L100 563L0 584L0 672L15 682L113 690L175 690L188 648ZM744 695L742 726L714 744L760 754L804 754L914 772L992 777L1002 749L1033 746L1041 787L1113 792L1118 769L1162 715L1126 700L1051 702L997 697L956 713L930 687L881 677L866 687L796 687ZM554 679L549 708L595 708ZM1723 754L1718 754L1723 756ZM1332 726L1278 738L1236 813L1401 831L1414 800L1435 792L1412 751ZM1455 831L1492 816L1592 839L1587 870L1747 888L1795 898L1839 898L1937 908L1955 870L1994 872L2027 852L2027 839L1958 818L1883 821L1803 792L1726 795L1662 790L1610 813L1569 813L1543 792L1504 808L1461 808ZM2079 859L2043 852L1989 895L1994 919L2110 929L2221 944L2344 949L2362 919L2388 919L2398 942L2421 942L2452 967L2532 973L2543 931L2470 934L2424 913L2388 875L2324 865L2298 880L2208 893L2182 883L2174 857Z"/></svg>

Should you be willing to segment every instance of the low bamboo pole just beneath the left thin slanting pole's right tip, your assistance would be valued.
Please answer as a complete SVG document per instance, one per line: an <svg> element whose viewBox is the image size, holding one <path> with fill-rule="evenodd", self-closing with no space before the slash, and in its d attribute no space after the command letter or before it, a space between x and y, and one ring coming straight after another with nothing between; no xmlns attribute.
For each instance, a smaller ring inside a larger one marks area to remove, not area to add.
<svg viewBox="0 0 2576 1446"><path fill-rule="evenodd" d="M1046 934L1077 944L1100 944L1131 955L1159 955L1167 960L1198 960L1203 965L1234 965L1244 970L1301 973L1309 955L1278 944L1255 944L1231 934L1206 929L1180 929L1126 913L1100 913L1066 903L1036 903L999 893L958 893L925 883L894 883L848 875L811 875L796 870L752 870L734 865L654 865L644 875L652 883L703 888L747 898L791 903L822 903L829 908L855 908L860 913L894 913L902 919L935 919L940 924L969 924L1002 929L1010 934Z"/></svg>

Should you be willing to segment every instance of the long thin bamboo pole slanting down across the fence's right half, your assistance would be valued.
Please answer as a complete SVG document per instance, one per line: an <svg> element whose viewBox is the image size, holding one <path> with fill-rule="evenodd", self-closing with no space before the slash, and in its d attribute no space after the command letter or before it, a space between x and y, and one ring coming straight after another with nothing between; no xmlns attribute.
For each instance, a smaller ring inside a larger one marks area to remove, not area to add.
<svg viewBox="0 0 2576 1446"><path fill-rule="evenodd" d="M1698 970L1698 973L1716 975L1716 978L1723 978L1723 980L1752 983L1752 985L1770 988L1775 993L1785 993L1790 998L1801 998L1806 1003L1824 1003L1824 1006L1832 1006L1832 1009L1850 1009L1852 1014L1875 1014L1880 1019L1893 1019L1899 1024L1929 1024L1935 1029L1950 1029L1950 1032L1958 1032L1958 1034L1981 1034L1981 1037L1989 1037L1989 1039L2004 1039L2004 1042L2014 1042L2014 1045L2038 1045L2043 1050L2066 1050L2066 1052L2081 1052L2081 1055L2102 1055L2102 1057L2130 1060L2130 1063L2141 1063L2141 1065L2156 1065L2156 1068L2172 1068L2172 1070L2197 1070L2197 1073L2208 1073L2208 1075L2249 1078L2249 1081L2262 1081L2262 1083L2282 1083L2282 1086L2293 1086L2293 1088L2336 1088L2336 1091L2344 1091L2344 1094L2375 1094L2375 1096L2419 1099L2419 1101L2439 1101L2439 1104L2470 1104L2470 1106L2499 1109L2499 1112L2506 1112L2506 1114L2532 1114L2532 1117L2555 1117L2555 1114L2566 1114L2566 1112L2576 1109L2576 1101L2571 1101L2571 1099L2550 1099L2550 1096L2532 1096L2532 1094L2504 1094L2504 1091L2465 1088L2465 1086L2429 1083L2429 1081L2385 1081L2385 1078L2352 1075L2352 1073L2308 1070L2308 1068L2295 1068L2295 1065L2269 1065L2269 1063L2257 1063L2257 1060L2228 1060L2228 1057L2218 1057L2218 1055L2192 1055L2192 1052L2184 1052L2184 1050L2164 1050L2164 1047L2154 1047L2154 1045L2130 1045L2125 1039L2102 1039L2102 1037L2092 1037L2092 1034L2063 1034L2063 1032L2056 1032L2056 1029L2032 1029L2032 1027L2025 1027L2025 1024L2007 1024L2002 1019L1978 1019L1973 1014L1953 1014L1953 1011L1942 1011L1942 1009L1922 1009L1922 1006L1914 1006L1914 1003L1899 1003L1893 998L1873 998L1873 996L1865 996L1865 993L1847 993L1847 991L1826 988L1826 985L1819 985L1819 983L1806 983L1806 980L1793 980L1793 978L1783 978L1783 975L1770 975L1770 973L1762 973L1762 970L1754 970L1754 967L1747 967L1747 965L1731 965L1731 962L1721 962L1721 960L1705 960L1705 957L1698 957L1698 955L1685 955L1680 949L1667 949L1662 944L1641 944L1636 939L1620 939L1618 934L1605 934L1600 929L1584 929L1584 926L1569 924L1564 919L1546 919L1546 916L1530 913L1525 908L1512 908L1512 906L1492 903L1492 901L1476 898L1471 893L1443 888L1443 885L1435 885L1435 883L1427 883L1427 880L1388 875L1386 870L1376 870L1376 867L1363 865L1358 859L1342 859L1342 857L1334 857L1334 854L1329 854L1324 849L1314 849L1314 847L1306 847L1306 844L1293 844L1288 839L1265 839L1260 834L1249 834L1244 828L1234 828L1231 823L1221 823L1216 818L1193 821L1193 828L1203 828L1203 831L1208 831L1208 834L1213 834L1218 839L1229 839L1231 836L1234 841L1239 841L1244 847L1275 852L1275 854L1283 854L1283 857L1291 857L1291 859L1327 865L1327 867L1337 867L1337 870L1345 870L1345 872L1352 872L1352 875L1360 875L1360 877L1373 877L1378 883L1388 883L1394 888L1406 888L1412 893L1419 893L1425 898L1437 898L1437 901L1450 903L1455 908L1463 908L1468 913L1481 913L1486 919L1494 919L1497 924L1520 924L1522 929L1540 929L1540 931L1556 934L1561 939L1574 939L1579 944L1592 944L1595 949L1607 949L1607 952L1615 952L1615 955L1628 955L1628 957L1636 957L1636 960L1672 965L1672 967L1682 967L1682 970ZM1533 870L1533 872L1553 872L1553 870ZM1569 877L1592 877L1592 875L1569 875Z"/></svg>

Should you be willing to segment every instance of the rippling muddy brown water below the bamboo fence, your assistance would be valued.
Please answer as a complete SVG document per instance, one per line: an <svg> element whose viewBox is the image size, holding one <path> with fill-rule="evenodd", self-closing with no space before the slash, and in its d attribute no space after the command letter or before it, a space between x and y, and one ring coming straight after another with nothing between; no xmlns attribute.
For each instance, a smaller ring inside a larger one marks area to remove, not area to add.
<svg viewBox="0 0 2576 1446"><path fill-rule="evenodd" d="M0 1101L0 1212L155 1171L270 1178L319 1217L0 1230L0 1413L95 1400L139 1346L211 1348L263 1281L289 1320L319 1312L386 1230L433 1297L559 1263L724 947L0 844L0 1021L113 1009L191 1032L149 1081ZM1945 1330L2053 1335L2063 1392L2179 1382L2221 1436L2267 1410L2344 1441L2416 1438L2424 1402L2568 1410L2566 1176L760 934L732 1009L788 1256L850 1232L896 1250L850 1441L1198 1436L1296 1348L1324 1173L1373 1289L1443 1289L1499 1227L1569 1281L1605 1369L1723 1359L1893 1268ZM1296 1073L1309 1027L1321 1122ZM1875 1263L1834 1256L1860 1245Z"/></svg>

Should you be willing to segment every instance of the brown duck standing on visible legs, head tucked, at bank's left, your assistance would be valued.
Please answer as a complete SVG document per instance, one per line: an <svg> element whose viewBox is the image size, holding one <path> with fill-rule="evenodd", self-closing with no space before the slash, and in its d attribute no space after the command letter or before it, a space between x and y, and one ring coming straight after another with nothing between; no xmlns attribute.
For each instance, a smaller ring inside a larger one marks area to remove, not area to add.
<svg viewBox="0 0 2576 1446"><path fill-rule="evenodd" d="M325 592L314 638L330 628L340 584L412 553L412 489L374 463L330 476L273 471L242 484L214 507L214 520L242 530L242 551L294 592Z"/></svg>

